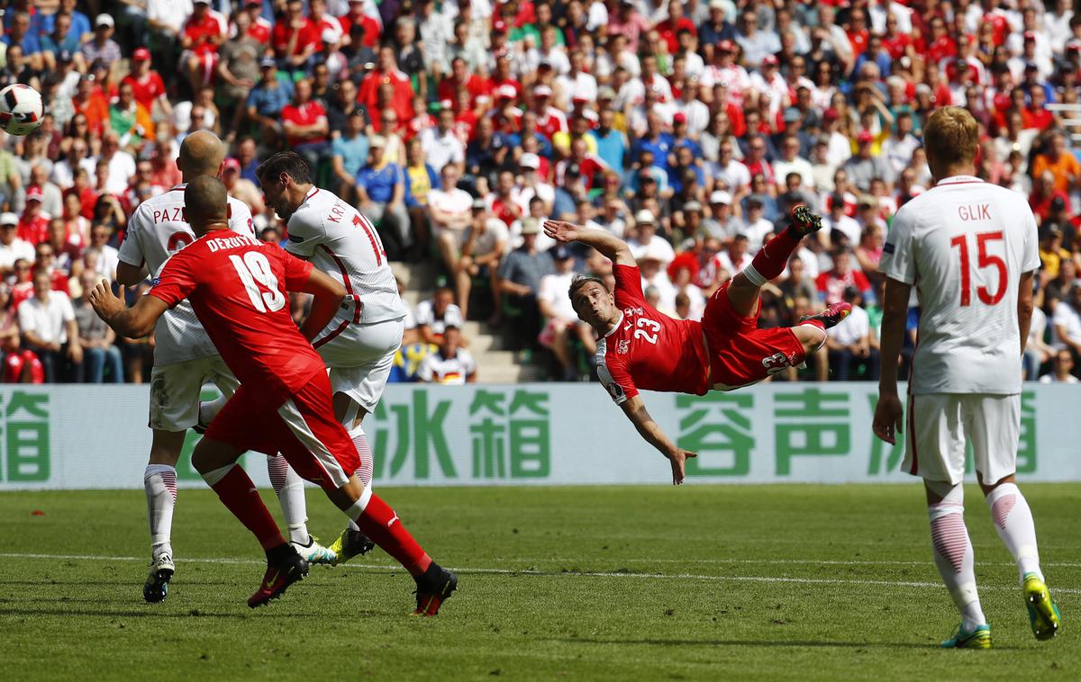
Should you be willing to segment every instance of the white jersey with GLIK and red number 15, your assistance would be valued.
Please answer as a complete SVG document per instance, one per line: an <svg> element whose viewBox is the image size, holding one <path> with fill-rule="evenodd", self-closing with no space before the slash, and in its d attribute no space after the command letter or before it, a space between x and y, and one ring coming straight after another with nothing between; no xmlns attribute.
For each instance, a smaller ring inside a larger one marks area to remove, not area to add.
<svg viewBox="0 0 1081 682"><path fill-rule="evenodd" d="M1036 218L1012 190L956 176L905 204L879 270L917 287L911 392L1020 393L1017 285L1039 267Z"/></svg>

